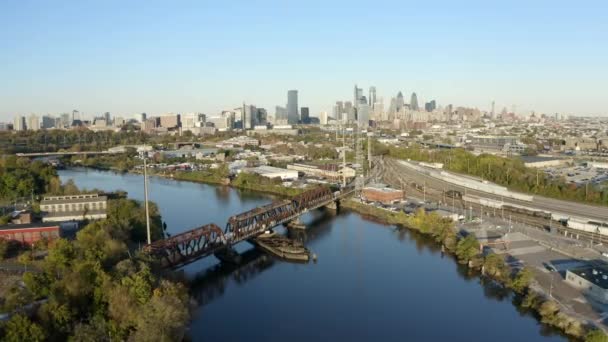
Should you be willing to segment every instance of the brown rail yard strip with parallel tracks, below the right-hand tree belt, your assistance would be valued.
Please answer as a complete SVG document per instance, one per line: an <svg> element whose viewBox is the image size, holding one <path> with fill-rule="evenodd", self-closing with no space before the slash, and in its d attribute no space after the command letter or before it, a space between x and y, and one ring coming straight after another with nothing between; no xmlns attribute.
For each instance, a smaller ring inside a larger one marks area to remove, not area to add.
<svg viewBox="0 0 608 342"><path fill-rule="evenodd" d="M425 184L427 187L440 191L457 190L468 195L475 195L483 198L490 198L498 201L503 201L505 204L517 204L527 206L533 209L548 211L555 214L565 214L570 217L584 218L593 221L608 221L608 207L601 207L577 202L562 201L541 196L534 196L532 202L518 200L514 198L503 197L492 193L473 190L462 185L446 182L441 179L425 175L414 169L408 168L399 163L399 161L391 158L385 158L385 167L391 169L402 176L406 182L416 182L420 185Z"/></svg>

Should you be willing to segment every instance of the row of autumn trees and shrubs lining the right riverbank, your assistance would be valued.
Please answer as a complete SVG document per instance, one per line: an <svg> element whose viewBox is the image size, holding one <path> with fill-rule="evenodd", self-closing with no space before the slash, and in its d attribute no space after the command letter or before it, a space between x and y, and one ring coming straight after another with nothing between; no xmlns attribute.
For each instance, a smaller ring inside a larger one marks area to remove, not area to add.
<svg viewBox="0 0 608 342"><path fill-rule="evenodd" d="M341 206L358 214L373 217L385 224L397 225L401 229L410 229L434 237L434 240L438 244L441 244L442 251L454 255L458 262L467 264L469 269L476 272L478 276L488 277L503 288L512 291L516 296L514 303L517 303L518 308L530 310L540 322L558 329L570 338L586 341L596 338L600 338L598 341L604 341L601 338L608 339L608 336L597 330L594 326L563 312L562 307L557 302L548 298L543 293L534 290L532 282L535 280L530 270L524 268L515 272L505 263L503 257L494 253L482 255L478 249L479 242L472 235L456 237L453 223L450 225L450 229L454 237L457 238L455 244L451 240L451 234L445 232L438 233L443 228L438 227L433 229L429 227L430 222L437 224L437 221L445 221L445 219L439 218L436 214L419 212L414 216L407 216L402 212L384 210L355 200L344 201L341 203ZM470 248L467 248L467 251L463 248L467 247L465 244L475 247L477 252L473 253L473 249Z"/></svg>

